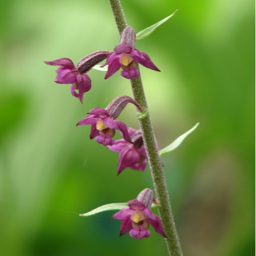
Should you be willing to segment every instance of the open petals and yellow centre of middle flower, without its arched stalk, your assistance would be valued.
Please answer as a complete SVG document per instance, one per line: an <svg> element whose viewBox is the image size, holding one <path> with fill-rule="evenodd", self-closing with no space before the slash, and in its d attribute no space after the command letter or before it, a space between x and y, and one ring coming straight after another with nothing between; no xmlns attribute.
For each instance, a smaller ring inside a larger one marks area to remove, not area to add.
<svg viewBox="0 0 256 256"><path fill-rule="evenodd" d="M96 107L89 112L89 116L80 120L77 125L92 125L90 139L96 138L99 144L104 146L113 145L115 140L115 130L120 130L126 140L130 140L127 126L115 118L110 116L110 113L103 108Z"/></svg>

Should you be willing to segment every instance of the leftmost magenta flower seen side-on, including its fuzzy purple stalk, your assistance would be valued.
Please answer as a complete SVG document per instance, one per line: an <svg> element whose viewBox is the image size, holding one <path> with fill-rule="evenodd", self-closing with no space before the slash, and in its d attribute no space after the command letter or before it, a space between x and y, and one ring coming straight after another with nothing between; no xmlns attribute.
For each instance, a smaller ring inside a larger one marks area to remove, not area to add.
<svg viewBox="0 0 256 256"><path fill-rule="evenodd" d="M57 70L56 83L72 84L70 91L74 97L83 102L83 94L91 89L91 79L86 74L94 65L108 56L108 51L96 51L81 59L75 67L72 60L61 58L53 61L44 61L47 65L60 66ZM76 92L78 90L78 92Z"/></svg>

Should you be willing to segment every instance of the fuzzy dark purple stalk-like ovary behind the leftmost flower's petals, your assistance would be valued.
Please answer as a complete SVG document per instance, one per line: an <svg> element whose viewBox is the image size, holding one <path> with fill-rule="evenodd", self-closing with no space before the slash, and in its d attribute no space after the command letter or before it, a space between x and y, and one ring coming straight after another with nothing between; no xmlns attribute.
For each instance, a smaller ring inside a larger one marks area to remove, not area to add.
<svg viewBox="0 0 256 256"><path fill-rule="evenodd" d="M102 60L107 59L108 54L110 54L109 51L95 51L94 53L85 56L83 59L79 60L77 64L78 72L80 74L88 72Z"/></svg>

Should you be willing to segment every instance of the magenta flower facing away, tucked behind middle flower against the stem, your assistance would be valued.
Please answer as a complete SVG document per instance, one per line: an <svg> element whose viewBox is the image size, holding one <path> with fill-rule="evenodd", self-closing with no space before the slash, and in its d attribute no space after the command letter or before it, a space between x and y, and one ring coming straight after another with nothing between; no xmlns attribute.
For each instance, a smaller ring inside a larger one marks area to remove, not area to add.
<svg viewBox="0 0 256 256"><path fill-rule="evenodd" d="M143 144L143 138L140 130L128 128L131 140L117 140L108 149L119 152L117 174L129 167L134 170L145 170L146 168L146 151Z"/></svg>

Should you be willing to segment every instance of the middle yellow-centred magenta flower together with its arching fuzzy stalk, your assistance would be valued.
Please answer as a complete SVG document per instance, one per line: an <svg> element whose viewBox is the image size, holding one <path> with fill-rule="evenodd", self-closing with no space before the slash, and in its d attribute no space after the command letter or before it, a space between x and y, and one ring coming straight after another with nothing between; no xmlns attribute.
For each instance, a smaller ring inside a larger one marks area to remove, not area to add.
<svg viewBox="0 0 256 256"><path fill-rule="evenodd" d="M113 139L115 130L120 130L125 140L131 141L126 124L116 120L127 103L134 104L139 111L142 111L142 108L134 99L122 95L113 99L105 109L93 108L88 113L89 116L80 120L77 125L92 125L90 139L96 138L96 141L104 146L112 146L115 143Z"/></svg>

